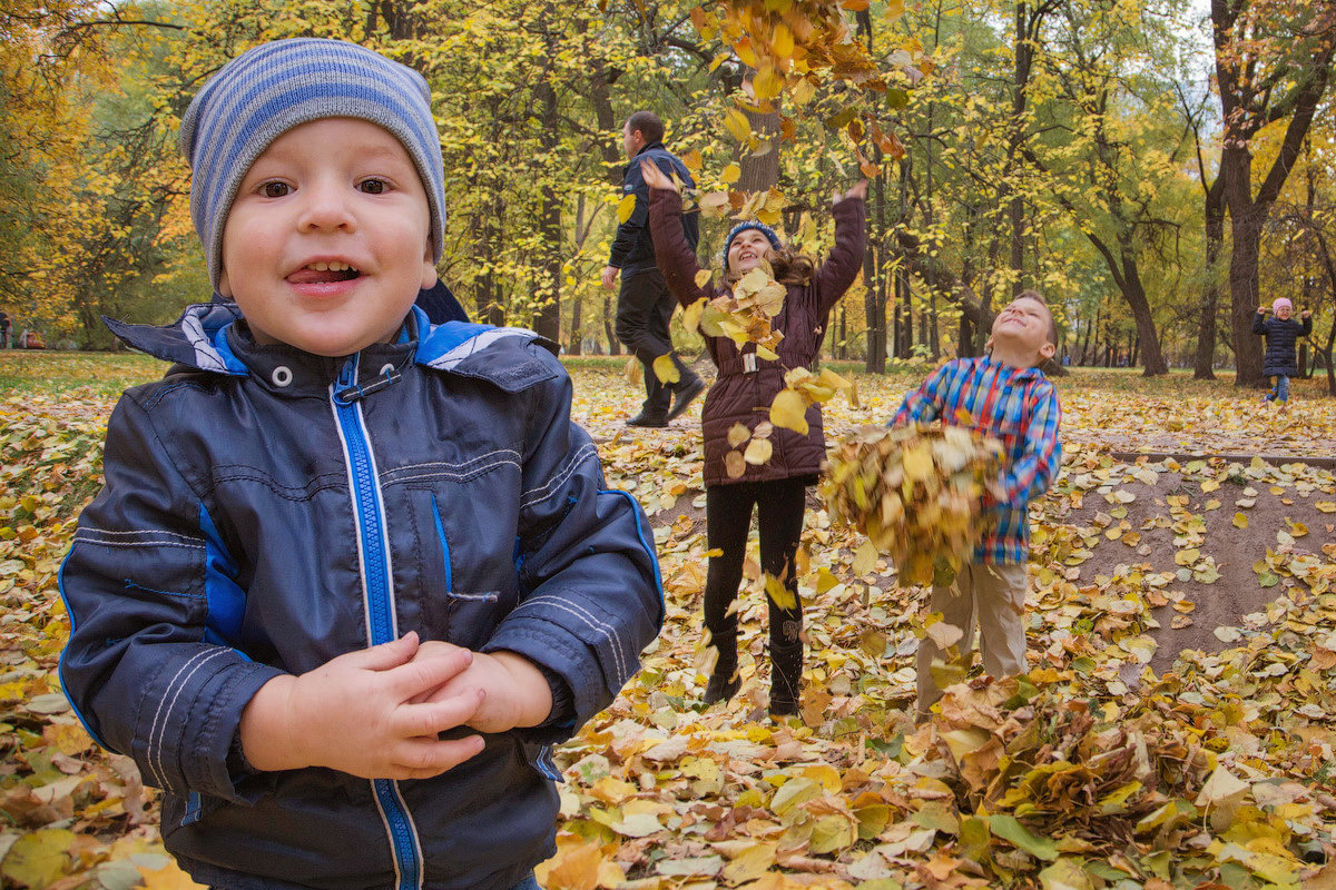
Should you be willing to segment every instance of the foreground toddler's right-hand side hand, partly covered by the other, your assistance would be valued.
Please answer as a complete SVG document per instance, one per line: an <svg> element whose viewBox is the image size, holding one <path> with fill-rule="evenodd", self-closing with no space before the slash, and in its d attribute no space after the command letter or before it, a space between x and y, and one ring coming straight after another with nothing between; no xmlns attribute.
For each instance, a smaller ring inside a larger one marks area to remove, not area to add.
<svg viewBox="0 0 1336 890"><path fill-rule="evenodd" d="M418 658L440 656L458 646L440 642L422 643ZM552 690L533 663L514 652L472 652L473 660L461 674L438 689L420 695L424 702L466 695L480 689L482 706L469 719L480 733L505 733L520 726L537 726L552 714Z"/></svg>

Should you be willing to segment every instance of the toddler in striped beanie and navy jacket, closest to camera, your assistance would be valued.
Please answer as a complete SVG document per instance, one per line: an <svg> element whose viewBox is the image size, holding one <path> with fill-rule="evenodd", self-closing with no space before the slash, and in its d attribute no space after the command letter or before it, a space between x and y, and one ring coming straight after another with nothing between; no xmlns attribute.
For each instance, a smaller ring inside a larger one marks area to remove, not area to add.
<svg viewBox="0 0 1336 890"><path fill-rule="evenodd" d="M61 571L61 682L218 887L533 886L570 737L663 620L530 331L413 308L444 171L426 83L355 44L227 64L182 121L215 290L108 424Z"/></svg>

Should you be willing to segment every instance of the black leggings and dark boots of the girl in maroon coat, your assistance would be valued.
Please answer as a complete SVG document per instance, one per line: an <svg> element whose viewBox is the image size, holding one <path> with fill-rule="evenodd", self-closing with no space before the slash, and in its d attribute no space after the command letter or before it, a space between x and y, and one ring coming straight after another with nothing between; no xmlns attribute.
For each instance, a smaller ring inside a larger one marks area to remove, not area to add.
<svg viewBox="0 0 1336 890"><path fill-rule="evenodd" d="M803 604L798 599L798 571L794 556L803 534L810 478L775 479L772 482L739 482L705 488L705 538L711 550L723 555L709 559L705 575L705 627L719 648L716 671L732 675L737 669L737 615L728 614L737 586L743 579L747 532L752 506L758 507L762 571L782 578L794 598L792 608L780 608L774 598L770 604L770 648L774 663L772 683L784 686L796 699L802 675Z"/></svg>

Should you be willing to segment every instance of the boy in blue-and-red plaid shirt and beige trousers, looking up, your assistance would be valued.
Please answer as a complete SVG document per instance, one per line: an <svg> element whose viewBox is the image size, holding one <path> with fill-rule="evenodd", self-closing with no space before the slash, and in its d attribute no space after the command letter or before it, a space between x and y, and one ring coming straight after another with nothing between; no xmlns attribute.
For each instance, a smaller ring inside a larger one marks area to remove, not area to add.
<svg viewBox="0 0 1336 890"><path fill-rule="evenodd" d="M961 567L950 587L934 587L929 611L965 631L961 650L974 650L979 627L983 670L993 677L1022 674L1025 663L1026 562L1030 556L1030 500L1058 475L1062 411L1053 384L1038 366L1057 351L1057 326L1037 291L1025 291L993 320L989 354L953 359L923 386L904 396L892 426L967 423L1005 446L1005 466L995 490L985 496L991 520L974 559ZM918 709L926 714L942 690L933 681L933 660L942 650L925 638L918 650Z"/></svg>

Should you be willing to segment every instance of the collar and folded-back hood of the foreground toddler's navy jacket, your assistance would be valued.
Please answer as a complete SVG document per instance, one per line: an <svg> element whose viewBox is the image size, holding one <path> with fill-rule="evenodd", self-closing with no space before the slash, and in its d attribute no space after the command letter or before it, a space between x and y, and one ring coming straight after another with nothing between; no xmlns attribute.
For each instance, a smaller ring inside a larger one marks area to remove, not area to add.
<svg viewBox="0 0 1336 890"><path fill-rule="evenodd" d="M489 380L517 392L540 379L549 379L549 363L516 362L502 344L538 343L553 354L557 347L526 328L493 327L469 322L432 324L426 312L414 306L394 343L377 343L357 356L326 358L277 344L255 343L234 303L196 303L186 307L172 324L162 327L127 324L103 316L103 322L123 343L166 362L196 371L232 378L254 376L269 388L286 392L310 386L321 388L334 382L349 358L357 359L357 382L366 386L390 367L402 371L417 363L436 371ZM305 384L305 386L302 386Z"/></svg>

